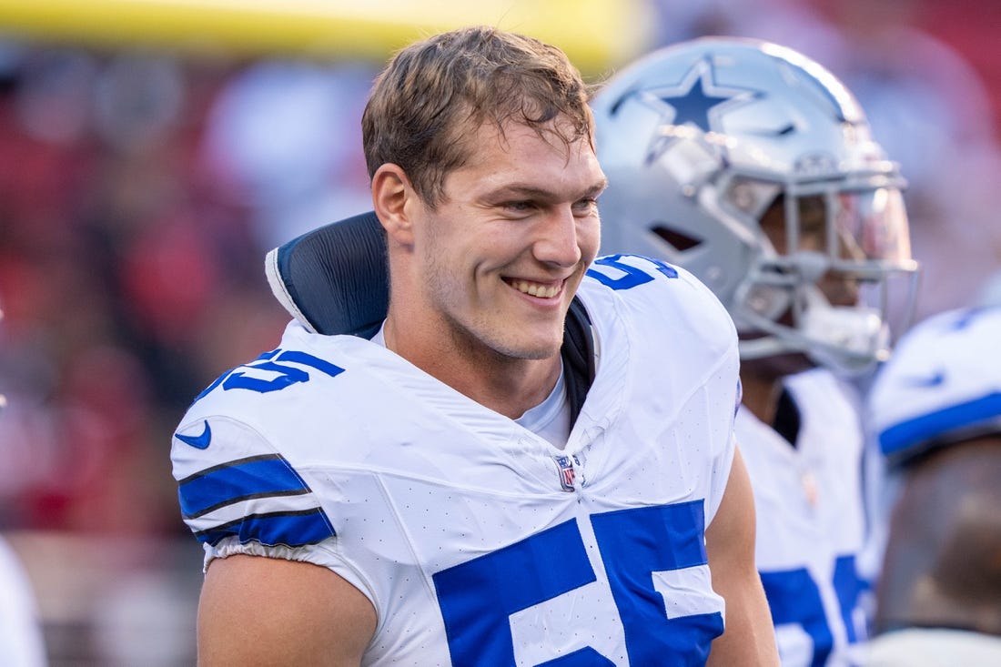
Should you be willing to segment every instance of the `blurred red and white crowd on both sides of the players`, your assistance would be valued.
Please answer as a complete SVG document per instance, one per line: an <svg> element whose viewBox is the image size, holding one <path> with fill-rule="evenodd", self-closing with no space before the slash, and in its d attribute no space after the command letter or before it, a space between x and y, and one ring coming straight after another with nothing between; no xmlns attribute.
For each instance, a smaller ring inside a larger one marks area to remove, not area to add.
<svg viewBox="0 0 1001 667"><path fill-rule="evenodd" d="M857 94L910 181L916 318L1001 268L991 0L654 6L663 44L770 39ZM170 434L201 389L276 345L287 317L264 253L369 208L359 122L380 64L0 38L0 532L177 538L197 560Z"/></svg>

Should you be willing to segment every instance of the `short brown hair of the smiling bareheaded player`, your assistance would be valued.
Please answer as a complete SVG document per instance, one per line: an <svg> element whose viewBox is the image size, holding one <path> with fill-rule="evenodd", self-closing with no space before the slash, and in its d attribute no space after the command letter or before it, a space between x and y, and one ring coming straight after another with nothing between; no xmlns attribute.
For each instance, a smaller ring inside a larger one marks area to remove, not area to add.
<svg viewBox="0 0 1001 667"><path fill-rule="evenodd" d="M371 177L398 164L434 206L483 123L524 123L566 144L593 141L590 89L567 55L533 37L476 26L415 42L375 79L361 119ZM552 121L561 118L557 127Z"/></svg>

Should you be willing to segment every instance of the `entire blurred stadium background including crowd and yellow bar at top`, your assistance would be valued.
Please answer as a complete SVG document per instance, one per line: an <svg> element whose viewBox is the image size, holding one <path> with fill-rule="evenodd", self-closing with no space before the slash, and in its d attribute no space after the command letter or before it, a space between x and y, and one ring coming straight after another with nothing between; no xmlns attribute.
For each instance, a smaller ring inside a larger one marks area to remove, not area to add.
<svg viewBox="0 0 1001 667"><path fill-rule="evenodd" d="M172 429L277 343L264 252L367 208L361 105L414 38L495 24L596 82L687 37L784 42L846 80L904 165L919 316L1001 267L994 0L466 4L0 0L0 533L51 665L193 663Z"/></svg>

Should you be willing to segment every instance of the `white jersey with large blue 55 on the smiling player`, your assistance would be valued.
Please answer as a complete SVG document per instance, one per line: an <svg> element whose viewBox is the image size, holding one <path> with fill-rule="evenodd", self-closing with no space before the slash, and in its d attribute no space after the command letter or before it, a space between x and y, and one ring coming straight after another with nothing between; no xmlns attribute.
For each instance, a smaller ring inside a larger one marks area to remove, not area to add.
<svg viewBox="0 0 1001 667"><path fill-rule="evenodd" d="M333 570L377 612L364 665L703 664L736 332L659 261L600 258L579 295L600 359L564 450L376 344L289 324L175 434L206 562Z"/></svg>

